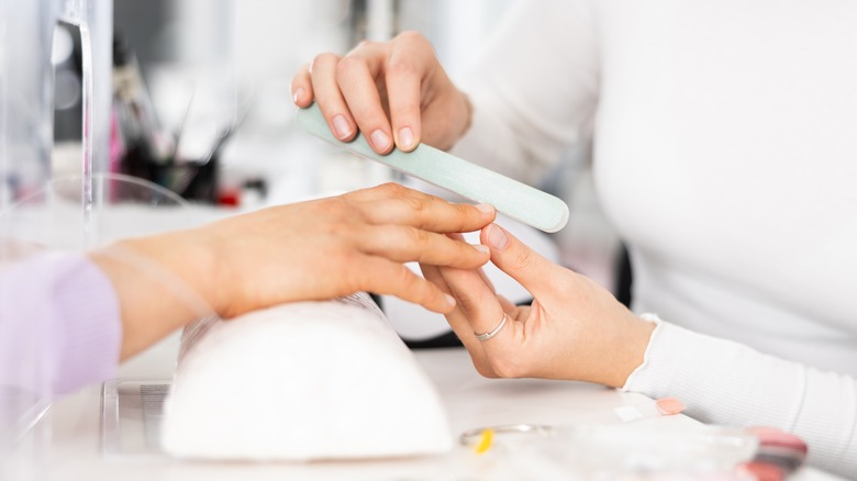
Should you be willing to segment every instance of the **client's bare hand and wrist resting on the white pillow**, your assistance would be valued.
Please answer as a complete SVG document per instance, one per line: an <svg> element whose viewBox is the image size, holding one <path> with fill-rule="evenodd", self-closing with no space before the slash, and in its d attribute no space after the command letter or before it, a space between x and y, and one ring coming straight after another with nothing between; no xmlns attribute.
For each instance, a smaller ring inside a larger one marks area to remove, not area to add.
<svg viewBox="0 0 857 481"><path fill-rule="evenodd" d="M432 311L448 312L453 298L403 264L482 266L489 258L488 248L445 234L480 230L494 215L488 205L453 204L388 183L123 240L90 257L116 289L125 358L199 316L182 304L186 299L176 292L175 283L164 282L164 272L225 318L279 303L357 291L398 295ZM154 269L124 261L123 256L131 253L151 261Z"/></svg>

